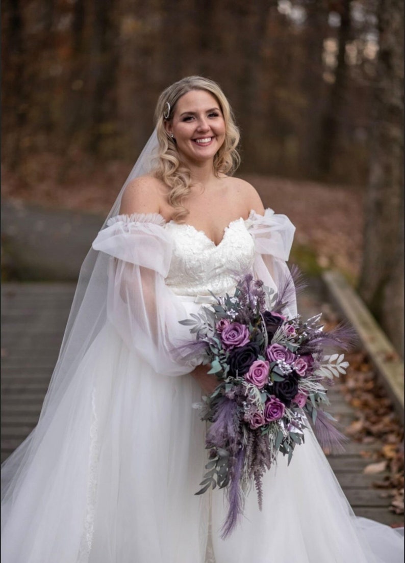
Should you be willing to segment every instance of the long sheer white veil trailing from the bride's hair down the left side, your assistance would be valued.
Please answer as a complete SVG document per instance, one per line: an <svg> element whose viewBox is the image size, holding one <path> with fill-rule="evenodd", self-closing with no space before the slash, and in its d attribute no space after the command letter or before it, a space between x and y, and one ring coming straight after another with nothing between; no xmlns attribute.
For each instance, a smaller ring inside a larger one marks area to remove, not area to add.
<svg viewBox="0 0 405 563"><path fill-rule="evenodd" d="M158 138L154 129L148 142L136 160L130 175L119 191L117 199L106 217L118 214L122 194L129 182L134 178L148 173L153 168L153 160L157 156ZM96 235L96 233L95 233ZM81 363L94 338L106 321L106 301L108 290L109 256L104 252L90 249L84 258L77 288L70 309L68 323L61 344L59 358L50 385L43 402L38 425L26 440L2 464L2 504L11 500L15 488L24 477L26 468L35 455L37 446L41 444L44 432L54 417L57 406L68 390L70 380Z"/></svg>

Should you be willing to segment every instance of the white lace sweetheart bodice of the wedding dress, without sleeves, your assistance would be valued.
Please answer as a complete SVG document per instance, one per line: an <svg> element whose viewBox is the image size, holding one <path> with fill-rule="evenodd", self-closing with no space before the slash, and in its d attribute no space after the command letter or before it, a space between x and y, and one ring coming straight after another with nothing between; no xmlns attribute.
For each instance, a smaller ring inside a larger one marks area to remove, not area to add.
<svg viewBox="0 0 405 563"><path fill-rule="evenodd" d="M217 245L191 225L168 222L165 229L172 235L173 252L166 284L184 296L232 291L235 280L253 267L255 249L247 229L250 221L232 221Z"/></svg>

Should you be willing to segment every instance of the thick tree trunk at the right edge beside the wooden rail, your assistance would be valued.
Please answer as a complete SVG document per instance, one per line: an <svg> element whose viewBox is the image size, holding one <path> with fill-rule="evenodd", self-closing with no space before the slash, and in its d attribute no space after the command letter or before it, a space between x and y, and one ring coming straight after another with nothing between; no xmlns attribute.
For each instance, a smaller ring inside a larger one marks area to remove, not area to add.
<svg viewBox="0 0 405 563"><path fill-rule="evenodd" d="M403 354L403 2L380 0L380 52L359 292Z"/></svg>

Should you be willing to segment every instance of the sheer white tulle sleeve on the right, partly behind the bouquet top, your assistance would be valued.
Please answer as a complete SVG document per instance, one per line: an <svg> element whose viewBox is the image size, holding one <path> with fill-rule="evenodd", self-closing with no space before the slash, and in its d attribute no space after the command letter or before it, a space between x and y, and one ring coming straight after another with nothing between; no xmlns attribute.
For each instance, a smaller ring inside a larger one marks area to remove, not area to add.
<svg viewBox="0 0 405 563"><path fill-rule="evenodd" d="M265 285L281 291L287 287L288 316L297 314L295 289L290 270L286 264L290 256L295 226L286 215L277 215L266 209L264 215L251 212L248 229L255 242L255 275Z"/></svg>

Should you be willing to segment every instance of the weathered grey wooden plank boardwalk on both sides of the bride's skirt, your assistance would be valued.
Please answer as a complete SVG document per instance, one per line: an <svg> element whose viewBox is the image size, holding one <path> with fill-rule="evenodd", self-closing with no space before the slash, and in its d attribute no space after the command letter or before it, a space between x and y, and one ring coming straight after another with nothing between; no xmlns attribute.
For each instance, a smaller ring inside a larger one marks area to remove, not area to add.
<svg viewBox="0 0 405 563"><path fill-rule="evenodd" d="M2 461L25 439L38 421L43 397L59 354L74 294L70 283L5 283L2 285ZM319 290L319 288L318 288ZM317 288L300 299L303 316L321 310ZM330 390L330 412L348 425L355 410L344 400L339 385ZM358 516L385 524L401 517L389 512L390 500L372 488L379 475L364 475L370 460L361 456L367 446L351 441L343 454L329 461L346 497Z"/></svg>

